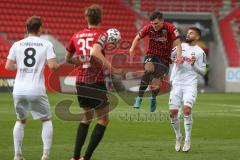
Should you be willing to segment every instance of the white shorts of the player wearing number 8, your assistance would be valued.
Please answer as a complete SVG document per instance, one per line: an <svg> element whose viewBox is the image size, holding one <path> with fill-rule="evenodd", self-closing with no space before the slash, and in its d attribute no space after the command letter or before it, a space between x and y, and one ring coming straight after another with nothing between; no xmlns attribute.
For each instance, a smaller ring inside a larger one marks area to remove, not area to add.
<svg viewBox="0 0 240 160"><path fill-rule="evenodd" d="M33 119L51 118L51 110L46 95L13 95L15 111L19 120L27 119L31 112Z"/></svg>

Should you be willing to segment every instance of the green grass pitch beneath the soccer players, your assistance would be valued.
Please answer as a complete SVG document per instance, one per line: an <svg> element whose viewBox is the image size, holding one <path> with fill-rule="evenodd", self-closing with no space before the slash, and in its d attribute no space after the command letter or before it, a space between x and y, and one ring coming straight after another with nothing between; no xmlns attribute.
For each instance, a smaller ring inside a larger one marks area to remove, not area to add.
<svg viewBox="0 0 240 160"><path fill-rule="evenodd" d="M71 98L71 108L79 111L76 98L48 94L53 111L54 140L52 160L68 160L72 156L78 122L56 117L54 108L61 99ZM110 113L111 122L93 160L236 160L240 157L240 94L199 94L193 109L192 145L189 153L175 152L175 135L167 117L168 95L158 97L158 111L149 113L149 99L140 111L131 109L122 100ZM137 116L140 115L140 118ZM146 118L155 116L155 118ZM10 93L0 93L0 159L13 159L12 128L15 112ZM91 125L90 131L95 124ZM183 131L183 123L181 123ZM89 138L89 136L88 136ZM87 143L88 143L87 139ZM86 144L85 143L85 148ZM84 151L85 151L84 148ZM26 160L40 159L42 154L41 122L31 116L25 127L23 154Z"/></svg>

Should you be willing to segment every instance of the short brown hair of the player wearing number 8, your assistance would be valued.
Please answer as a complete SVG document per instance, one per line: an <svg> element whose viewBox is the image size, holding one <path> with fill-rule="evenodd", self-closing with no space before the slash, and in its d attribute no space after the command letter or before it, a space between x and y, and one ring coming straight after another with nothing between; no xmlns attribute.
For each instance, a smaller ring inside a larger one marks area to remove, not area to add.
<svg viewBox="0 0 240 160"><path fill-rule="evenodd" d="M39 16L29 17L26 21L28 33L38 33L40 27L42 26L42 20Z"/></svg>

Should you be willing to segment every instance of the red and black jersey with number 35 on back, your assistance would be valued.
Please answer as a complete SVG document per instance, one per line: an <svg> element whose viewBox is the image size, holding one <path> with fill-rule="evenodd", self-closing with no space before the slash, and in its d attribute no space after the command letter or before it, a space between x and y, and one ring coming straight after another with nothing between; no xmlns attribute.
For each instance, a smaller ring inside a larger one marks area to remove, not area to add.
<svg viewBox="0 0 240 160"><path fill-rule="evenodd" d="M95 43L103 48L107 41L107 34L98 28L87 28L76 33L67 50L75 52L79 57L81 65L78 66L77 82L99 82L104 81L102 65L91 57L92 48ZM102 50L104 54L104 51Z"/></svg>

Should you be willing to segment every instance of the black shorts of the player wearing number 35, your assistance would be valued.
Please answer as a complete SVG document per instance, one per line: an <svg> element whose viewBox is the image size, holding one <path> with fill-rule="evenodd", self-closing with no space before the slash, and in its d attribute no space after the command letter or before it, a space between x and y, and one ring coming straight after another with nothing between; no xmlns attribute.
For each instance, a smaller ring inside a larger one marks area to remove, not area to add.
<svg viewBox="0 0 240 160"><path fill-rule="evenodd" d="M77 96L80 107L105 107L108 103L107 88L104 82L77 83Z"/></svg>

